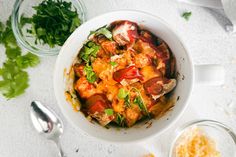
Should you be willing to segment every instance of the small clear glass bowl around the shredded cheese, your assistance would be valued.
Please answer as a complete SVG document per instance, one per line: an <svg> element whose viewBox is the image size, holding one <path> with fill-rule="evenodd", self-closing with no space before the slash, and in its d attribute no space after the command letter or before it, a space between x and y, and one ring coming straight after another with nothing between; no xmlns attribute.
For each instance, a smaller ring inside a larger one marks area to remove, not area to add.
<svg viewBox="0 0 236 157"><path fill-rule="evenodd" d="M215 142L221 157L236 157L236 134L228 126L214 120L194 121L178 128L171 144L169 157L177 157L175 155L176 143L181 135L193 127L199 128Z"/></svg>

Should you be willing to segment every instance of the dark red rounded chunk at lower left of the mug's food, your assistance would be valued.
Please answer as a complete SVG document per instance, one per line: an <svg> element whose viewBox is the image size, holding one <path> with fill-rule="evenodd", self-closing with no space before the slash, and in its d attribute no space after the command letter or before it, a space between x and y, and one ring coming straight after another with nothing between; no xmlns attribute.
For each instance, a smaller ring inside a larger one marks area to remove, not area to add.
<svg viewBox="0 0 236 157"><path fill-rule="evenodd" d="M109 107L109 102L105 95L95 94L88 98L86 101L86 107L88 112L91 114L95 112L101 113Z"/></svg>

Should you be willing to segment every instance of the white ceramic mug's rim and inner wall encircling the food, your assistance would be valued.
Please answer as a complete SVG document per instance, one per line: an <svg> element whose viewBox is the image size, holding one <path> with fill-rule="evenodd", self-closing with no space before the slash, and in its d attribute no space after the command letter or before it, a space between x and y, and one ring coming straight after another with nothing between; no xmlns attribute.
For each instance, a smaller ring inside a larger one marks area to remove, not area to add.
<svg viewBox="0 0 236 157"><path fill-rule="evenodd" d="M130 20L162 38L174 53L179 73L178 84L174 95L179 97L174 108L160 119L151 120L152 126L145 122L136 124L129 129L106 129L99 124L89 122L80 112L75 112L65 99L64 70L70 69L72 62L78 55L80 48L91 30L96 30L116 20ZM193 86L193 64L182 41L169 24L160 17L140 11L115 11L95 17L77 28L67 39L57 58L54 73L54 90L58 105L67 120L79 131L93 137L116 143L141 141L154 135L160 135L172 125L183 113Z"/></svg>

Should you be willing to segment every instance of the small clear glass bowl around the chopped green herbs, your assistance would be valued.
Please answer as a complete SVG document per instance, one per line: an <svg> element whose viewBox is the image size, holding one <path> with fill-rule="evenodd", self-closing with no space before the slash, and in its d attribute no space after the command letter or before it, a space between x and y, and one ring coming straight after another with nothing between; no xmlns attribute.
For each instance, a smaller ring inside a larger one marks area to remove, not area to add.
<svg viewBox="0 0 236 157"><path fill-rule="evenodd" d="M49 47L47 44L40 44L39 42L35 44L35 37L27 33L27 29L30 28L30 24L26 24L23 28L20 27L21 16L32 17L35 13L33 6L37 6L43 0L17 0L14 4L12 12L12 30L15 35L17 42L23 48L29 50L30 52L38 56L54 56L60 51L60 46L55 46L54 48ZM72 3L72 8L77 10L81 24L86 20L86 8L82 0L65 0Z"/></svg>

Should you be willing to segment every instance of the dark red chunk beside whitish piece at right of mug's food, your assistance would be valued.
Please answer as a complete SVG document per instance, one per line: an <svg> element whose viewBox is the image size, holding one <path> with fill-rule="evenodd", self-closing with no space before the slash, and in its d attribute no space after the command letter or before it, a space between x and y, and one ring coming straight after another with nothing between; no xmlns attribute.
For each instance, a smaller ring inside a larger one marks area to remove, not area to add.
<svg viewBox="0 0 236 157"><path fill-rule="evenodd" d="M155 77L144 83L144 89L148 94L158 95L163 90L163 78Z"/></svg>

